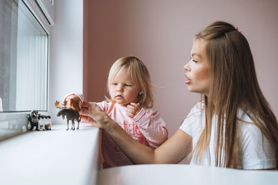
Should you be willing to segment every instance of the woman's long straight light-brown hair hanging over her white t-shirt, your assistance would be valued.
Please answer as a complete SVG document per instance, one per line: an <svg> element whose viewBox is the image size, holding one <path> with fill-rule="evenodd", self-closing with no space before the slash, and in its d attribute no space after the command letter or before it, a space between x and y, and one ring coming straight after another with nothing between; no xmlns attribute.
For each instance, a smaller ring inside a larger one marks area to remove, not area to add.
<svg viewBox="0 0 278 185"><path fill-rule="evenodd" d="M277 119L259 87L247 39L237 28L222 21L208 25L195 35L195 39L206 41L211 71L208 96L202 95L206 124L195 148L197 160L201 161L204 151L208 149L211 120L217 114L215 164L238 168L241 141L237 115L242 109L270 142L277 168Z"/></svg>

